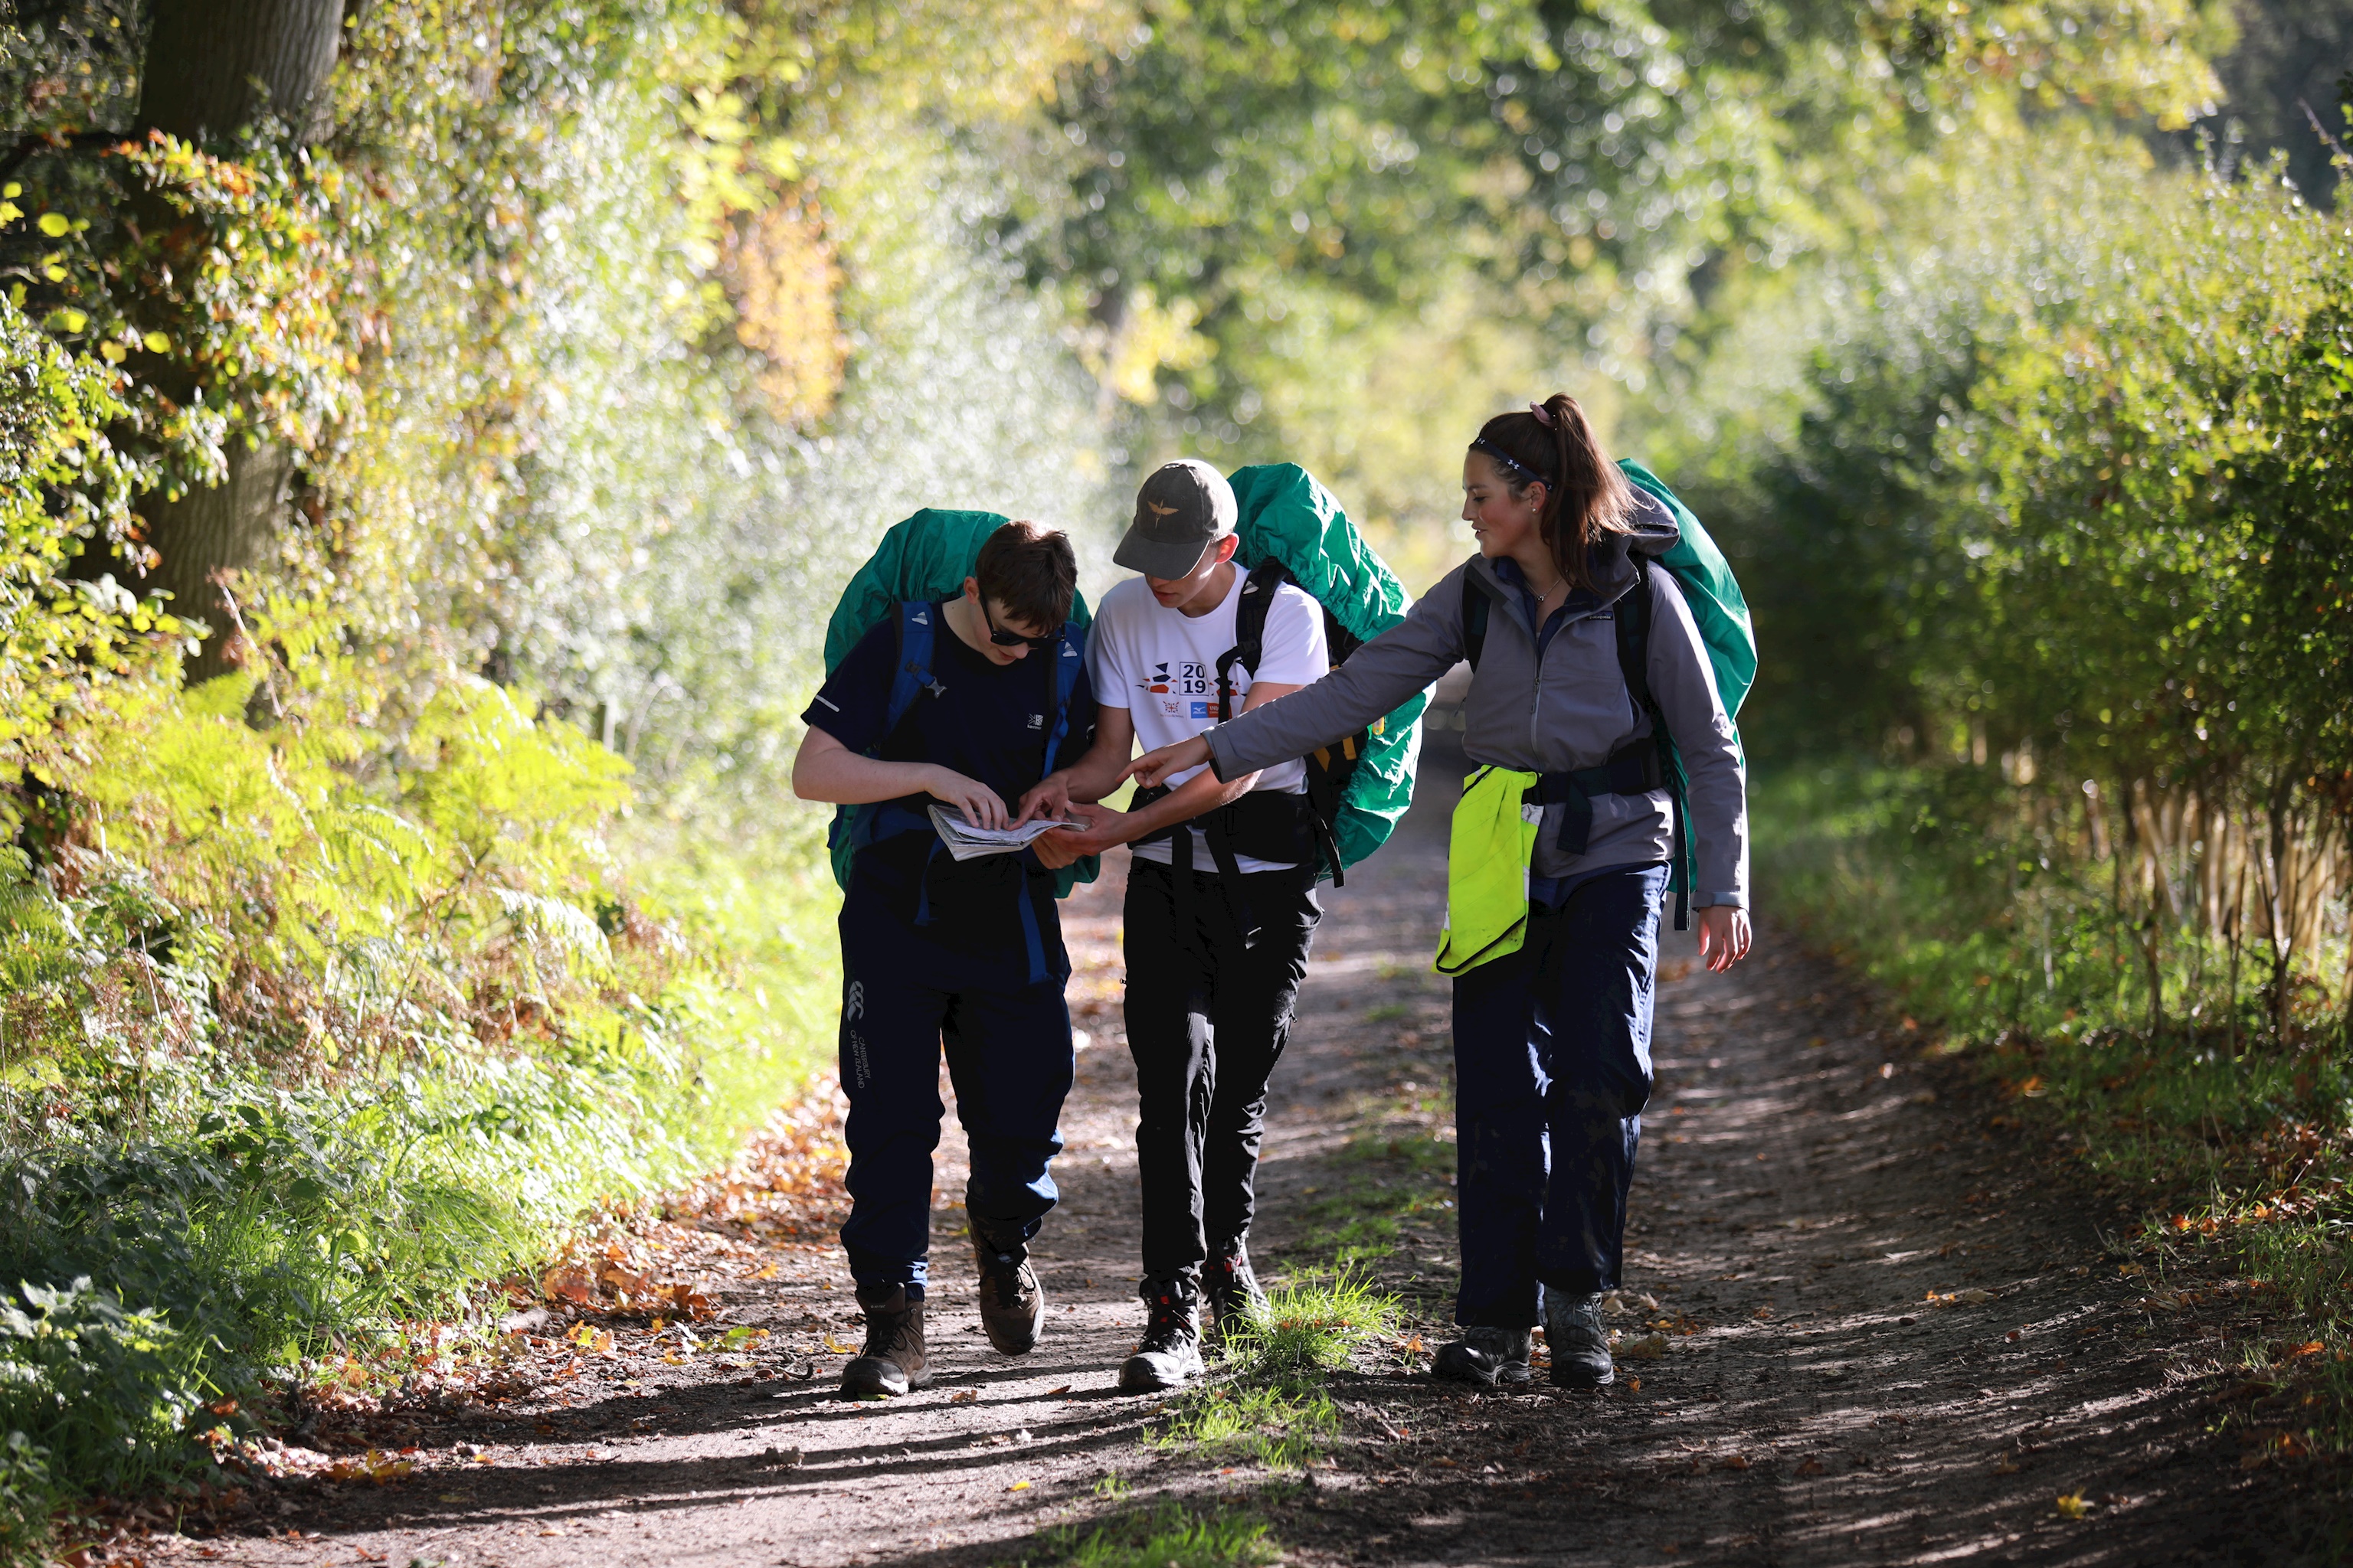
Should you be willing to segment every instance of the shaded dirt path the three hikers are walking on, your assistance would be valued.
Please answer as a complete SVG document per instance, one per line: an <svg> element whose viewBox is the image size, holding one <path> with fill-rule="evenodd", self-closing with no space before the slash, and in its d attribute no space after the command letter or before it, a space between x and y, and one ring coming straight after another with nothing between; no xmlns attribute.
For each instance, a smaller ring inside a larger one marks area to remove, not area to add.
<svg viewBox="0 0 2353 1568"><path fill-rule="evenodd" d="M1259 1248L1294 1267L1348 1248L1414 1305L1424 1349L1454 1258L1433 795L1442 783L1329 898L1278 1074ZM1426 1361L1400 1340L1334 1378L1346 1434L1306 1476L1151 1446L1160 1401L1113 1389L1139 1324L1115 917L1115 877L1071 910L1089 1046L1056 1166L1066 1199L1040 1241L1052 1324L1031 1356L986 1349L944 1206L936 1382L842 1403L824 1338L856 1340L840 1253L708 1222L720 1321L696 1331L701 1354L664 1361L675 1328L656 1342L642 1319L595 1319L591 1354L572 1354L551 1324L536 1394L313 1436L400 1441L416 1474L264 1488L242 1535L139 1554L1052 1561L1068 1552L1052 1530L1174 1495L1254 1509L1294 1561L2282 1561L2268 1533L2289 1479L2261 1448L2242 1467L2235 1432L2209 1434L2207 1335L2242 1293L2209 1281L2209 1305L2151 1309L2151 1281L2101 1251L2115 1213L2071 1199L2064 1168L1988 1126L1958 1074L1878 1032L1864 999L1772 931L1727 978L1694 973L1689 938L1671 950L1614 1392L1454 1392L1412 1373ZM953 1138L944 1154L939 1192L955 1194ZM609 1354L595 1324L614 1326ZM769 1340L727 1354L713 1335L729 1324Z"/></svg>

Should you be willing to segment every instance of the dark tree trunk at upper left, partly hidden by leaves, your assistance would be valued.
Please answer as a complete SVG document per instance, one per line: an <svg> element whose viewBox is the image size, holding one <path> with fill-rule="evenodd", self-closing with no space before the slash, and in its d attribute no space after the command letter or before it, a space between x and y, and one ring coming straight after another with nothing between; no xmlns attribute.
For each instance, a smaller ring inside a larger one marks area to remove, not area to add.
<svg viewBox="0 0 2353 1568"><path fill-rule="evenodd" d="M344 0L155 0L139 120L216 143L275 113L296 139L315 141L332 127L327 75L341 38ZM219 487L141 508L146 541L162 557L148 583L172 592L174 614L212 630L188 661L191 684L235 665L212 576L268 562L292 475L282 444L247 451L233 440Z"/></svg>

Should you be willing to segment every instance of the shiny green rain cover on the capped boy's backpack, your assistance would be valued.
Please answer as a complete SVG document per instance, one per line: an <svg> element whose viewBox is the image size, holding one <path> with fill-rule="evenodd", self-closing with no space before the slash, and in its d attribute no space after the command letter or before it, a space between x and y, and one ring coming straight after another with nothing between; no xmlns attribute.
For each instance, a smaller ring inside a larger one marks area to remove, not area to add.
<svg viewBox="0 0 2353 1568"><path fill-rule="evenodd" d="M1315 475L1297 463L1261 463L1238 468L1228 482L1242 536L1235 559L1245 571L1266 559L1282 562L1292 581L1358 642L1372 642L1405 618L1407 595L1398 574L1372 552ZM1372 722L1332 823L1344 867L1386 844L1414 804L1414 759L1428 701L1426 691L1417 693Z"/></svg>

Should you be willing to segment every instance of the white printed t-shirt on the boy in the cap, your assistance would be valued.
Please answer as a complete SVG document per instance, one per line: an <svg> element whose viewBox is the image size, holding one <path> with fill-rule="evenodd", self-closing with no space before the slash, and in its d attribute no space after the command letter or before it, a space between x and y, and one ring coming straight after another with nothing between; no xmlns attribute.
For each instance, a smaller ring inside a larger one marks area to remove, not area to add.
<svg viewBox="0 0 2353 1568"><path fill-rule="evenodd" d="M1207 616L1165 609L1144 578L1127 578L1104 595L1087 630L1087 684L1101 708L1125 708L1136 722L1144 750L1191 741L1217 724L1217 658L1233 646L1233 616L1242 604L1245 574L1233 569L1226 602ZM1233 665L1233 712L1242 712L1252 682L1306 686L1332 668L1322 635L1322 607L1292 583L1275 588L1266 607L1264 656L1257 670ZM1172 773L1169 788L1200 773ZM1306 790L1306 764L1285 762L1259 773L1254 790L1299 795ZM1169 863L1169 844L1134 844L1144 860ZM1282 860L1235 856L1245 872L1282 870ZM1193 870L1214 872L1209 844L1193 830Z"/></svg>

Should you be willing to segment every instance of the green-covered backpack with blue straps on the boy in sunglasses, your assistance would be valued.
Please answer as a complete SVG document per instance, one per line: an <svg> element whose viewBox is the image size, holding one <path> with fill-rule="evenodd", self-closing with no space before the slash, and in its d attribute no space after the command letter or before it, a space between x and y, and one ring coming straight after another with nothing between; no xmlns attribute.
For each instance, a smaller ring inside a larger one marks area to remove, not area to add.
<svg viewBox="0 0 2353 1568"><path fill-rule="evenodd" d="M889 705L882 717L885 736L899 729L899 722L906 719L927 689L939 684L932 679L936 632L932 625L932 604L962 592L965 578L972 576L972 567L981 555L981 545L1005 522L1007 517L998 512L925 508L906 522L894 524L866 564L852 574L849 585L842 588L842 597L833 607L833 618L826 621L826 675L833 675L849 658L849 649L885 618L896 616L899 623L899 665L896 675L892 675ZM1078 675L1087 668L1089 623L1092 616L1085 595L1073 592L1071 618L1064 623L1061 642L1054 646L1054 712L1052 724L1047 724L1045 769L1040 778L1054 771L1056 752L1071 733L1068 703L1071 691L1078 686ZM904 811L896 816L908 820L894 820L887 802L833 809L826 849L833 858L833 879L842 889L849 886L849 867L861 846L901 830L932 830L929 818ZM1071 889L1080 882L1094 882L1096 870L1096 856L1085 856L1061 867L1054 872L1054 896L1068 898ZM1024 912L1028 910L1026 898L1021 907Z"/></svg>

